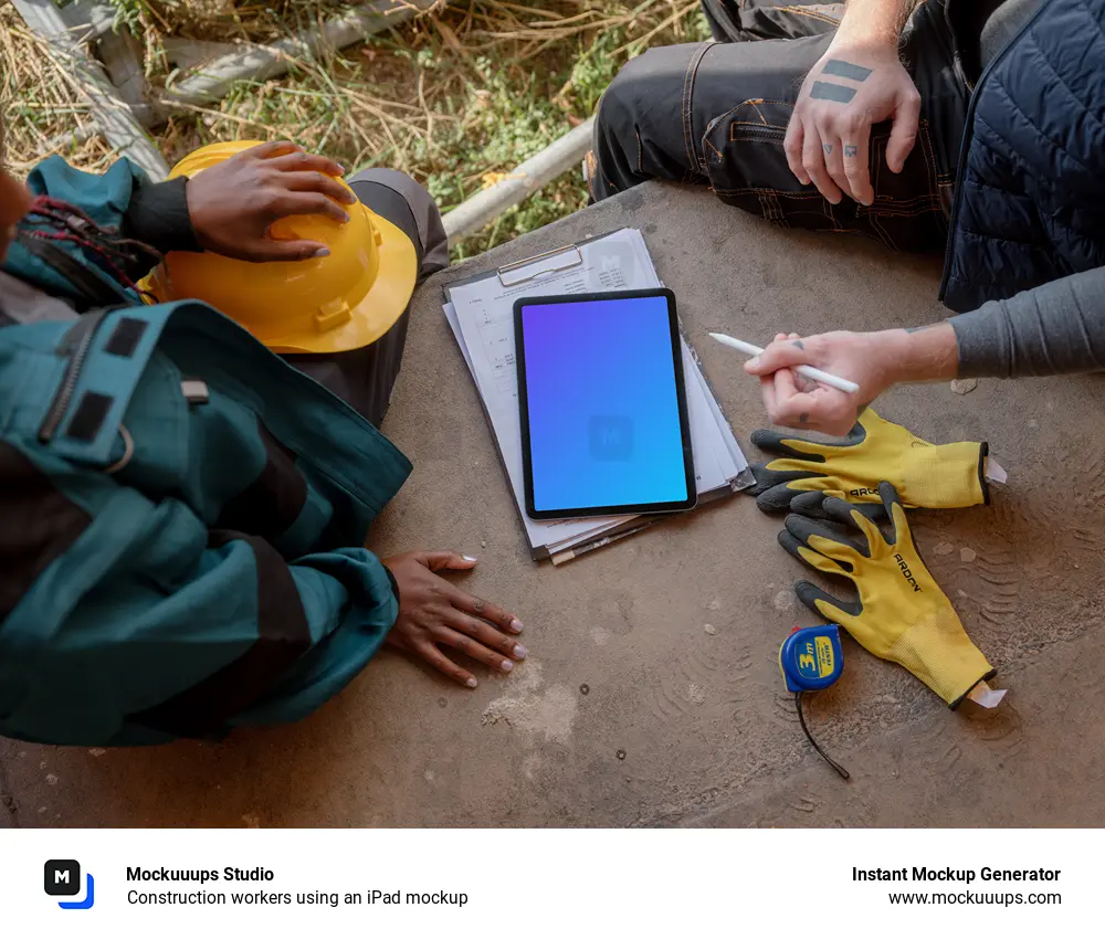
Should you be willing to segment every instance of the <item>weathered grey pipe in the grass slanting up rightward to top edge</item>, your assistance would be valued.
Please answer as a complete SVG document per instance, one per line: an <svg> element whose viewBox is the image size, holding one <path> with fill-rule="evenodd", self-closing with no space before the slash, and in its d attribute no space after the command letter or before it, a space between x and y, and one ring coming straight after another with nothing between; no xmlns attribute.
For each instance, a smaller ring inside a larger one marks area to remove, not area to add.
<svg viewBox="0 0 1105 939"><path fill-rule="evenodd" d="M166 87L166 97L183 104L208 104L225 97L234 82L264 81L283 75L291 59L312 56L326 49L343 49L429 10L435 0L373 0L354 7L323 23L299 30L271 45L250 46L223 55Z"/></svg>

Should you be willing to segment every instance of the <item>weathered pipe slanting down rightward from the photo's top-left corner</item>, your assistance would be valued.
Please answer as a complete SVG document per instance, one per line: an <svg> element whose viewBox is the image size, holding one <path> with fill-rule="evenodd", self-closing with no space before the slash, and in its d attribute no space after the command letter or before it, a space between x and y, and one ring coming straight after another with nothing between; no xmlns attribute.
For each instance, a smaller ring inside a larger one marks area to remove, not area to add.
<svg viewBox="0 0 1105 939"><path fill-rule="evenodd" d="M164 179L169 166L160 150L118 96L104 67L85 54L69 33L52 0L12 0L28 28L43 36L51 50L73 71L81 91L88 97L93 116L104 137L119 154L140 166L152 179Z"/></svg>

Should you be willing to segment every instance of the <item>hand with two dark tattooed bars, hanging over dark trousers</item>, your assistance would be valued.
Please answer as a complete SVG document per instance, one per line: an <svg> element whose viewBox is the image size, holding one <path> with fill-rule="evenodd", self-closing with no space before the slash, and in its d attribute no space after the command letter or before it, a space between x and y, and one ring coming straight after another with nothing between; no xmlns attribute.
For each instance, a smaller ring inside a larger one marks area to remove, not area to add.
<svg viewBox="0 0 1105 939"><path fill-rule="evenodd" d="M802 83L783 148L798 181L811 181L833 204L841 191L870 205L871 125L893 119L886 166L901 172L917 138L920 94L885 42L830 46Z"/></svg>

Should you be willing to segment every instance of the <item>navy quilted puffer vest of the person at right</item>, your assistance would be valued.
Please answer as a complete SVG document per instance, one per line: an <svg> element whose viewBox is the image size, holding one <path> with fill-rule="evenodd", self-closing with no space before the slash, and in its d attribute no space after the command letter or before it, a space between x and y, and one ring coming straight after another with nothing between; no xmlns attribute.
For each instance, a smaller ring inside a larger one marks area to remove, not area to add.
<svg viewBox="0 0 1105 939"><path fill-rule="evenodd" d="M982 73L940 298L955 310L1105 265L1105 0L1044 0Z"/></svg>

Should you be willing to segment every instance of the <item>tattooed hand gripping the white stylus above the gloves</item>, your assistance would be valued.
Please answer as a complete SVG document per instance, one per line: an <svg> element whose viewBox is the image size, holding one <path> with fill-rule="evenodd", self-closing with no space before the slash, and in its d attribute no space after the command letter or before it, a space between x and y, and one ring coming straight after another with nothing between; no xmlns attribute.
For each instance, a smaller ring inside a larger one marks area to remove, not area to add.
<svg viewBox="0 0 1105 939"><path fill-rule="evenodd" d="M799 338L780 333L745 371L760 378L764 407L772 424L800 430L846 434L860 411L893 383L884 334L824 333ZM791 371L792 366L817 366L860 386L849 394Z"/></svg>

